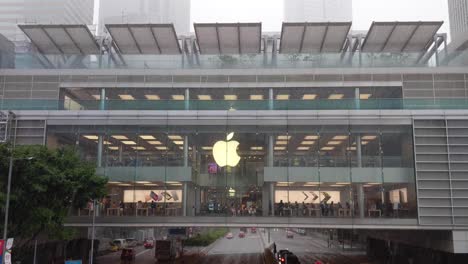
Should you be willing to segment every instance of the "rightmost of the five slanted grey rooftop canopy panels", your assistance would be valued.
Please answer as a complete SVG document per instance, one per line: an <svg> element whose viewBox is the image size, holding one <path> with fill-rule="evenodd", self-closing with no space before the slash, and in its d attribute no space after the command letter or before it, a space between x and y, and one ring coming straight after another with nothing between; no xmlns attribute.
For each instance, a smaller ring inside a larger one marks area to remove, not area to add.
<svg viewBox="0 0 468 264"><path fill-rule="evenodd" d="M442 26L441 21L373 22L363 52L423 52Z"/></svg>

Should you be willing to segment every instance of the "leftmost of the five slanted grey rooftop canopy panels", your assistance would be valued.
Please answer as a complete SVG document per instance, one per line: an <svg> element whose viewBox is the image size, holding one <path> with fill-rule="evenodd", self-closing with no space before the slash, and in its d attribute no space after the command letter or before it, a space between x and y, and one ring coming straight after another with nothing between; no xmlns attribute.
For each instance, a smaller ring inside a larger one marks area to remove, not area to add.
<svg viewBox="0 0 468 264"><path fill-rule="evenodd" d="M43 54L99 54L100 48L86 25L18 25Z"/></svg>

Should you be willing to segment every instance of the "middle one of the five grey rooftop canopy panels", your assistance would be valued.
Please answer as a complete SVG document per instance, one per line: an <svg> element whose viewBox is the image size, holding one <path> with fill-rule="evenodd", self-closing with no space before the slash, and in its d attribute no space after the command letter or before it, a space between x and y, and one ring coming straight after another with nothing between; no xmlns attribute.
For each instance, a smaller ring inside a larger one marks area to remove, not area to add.
<svg viewBox="0 0 468 264"><path fill-rule="evenodd" d="M261 23L194 23L201 54L261 52Z"/></svg>

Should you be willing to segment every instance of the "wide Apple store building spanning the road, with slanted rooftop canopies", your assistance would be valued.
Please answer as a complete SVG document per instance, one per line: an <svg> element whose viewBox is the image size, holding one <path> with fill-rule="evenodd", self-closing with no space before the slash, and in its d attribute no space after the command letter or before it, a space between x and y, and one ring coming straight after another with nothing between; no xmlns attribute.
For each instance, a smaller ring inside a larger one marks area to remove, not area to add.
<svg viewBox="0 0 468 264"><path fill-rule="evenodd" d="M0 70L8 138L95 164L102 228L406 230L468 252L468 61L437 52L441 22L194 26L108 24L112 49L22 27L42 53Z"/></svg>

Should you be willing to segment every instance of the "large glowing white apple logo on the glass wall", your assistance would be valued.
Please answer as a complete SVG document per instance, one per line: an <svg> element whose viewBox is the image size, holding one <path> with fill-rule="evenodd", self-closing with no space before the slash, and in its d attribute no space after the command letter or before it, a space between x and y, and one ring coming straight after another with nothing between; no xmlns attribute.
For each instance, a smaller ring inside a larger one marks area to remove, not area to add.
<svg viewBox="0 0 468 264"><path fill-rule="evenodd" d="M234 132L229 133L226 137L227 141L218 141L213 146L213 157L220 167L224 167L226 165L235 167L240 161L240 156L237 154L237 146L239 146L239 142L235 140L229 141L233 136Z"/></svg>

